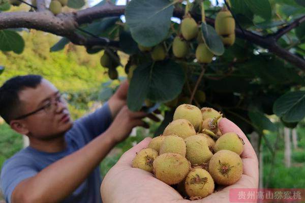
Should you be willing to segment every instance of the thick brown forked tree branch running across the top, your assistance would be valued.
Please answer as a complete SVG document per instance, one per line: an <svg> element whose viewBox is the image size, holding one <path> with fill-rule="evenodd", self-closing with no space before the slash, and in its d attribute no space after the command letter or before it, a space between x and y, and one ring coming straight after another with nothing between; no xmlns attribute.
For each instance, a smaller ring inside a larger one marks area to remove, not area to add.
<svg viewBox="0 0 305 203"><path fill-rule="evenodd" d="M44 1L44 0L37 0ZM42 8L41 8L42 9ZM76 28L83 23L91 23L96 19L109 16L120 16L124 15L125 6L115 6L112 4L105 4L100 7L92 7L72 13L62 13L54 16L50 11L45 10L42 12L2 12L0 13L0 29L7 28L33 28L46 32L53 33L54 35L67 37L71 42L90 46L90 45L100 45L100 46L113 46L119 48L118 42L107 43L104 39L89 38L86 39L83 36L76 35ZM174 9L174 17L182 18L184 16L184 11L179 8ZM198 14L192 14L192 16L197 20L201 20L201 16ZM273 36L260 36L251 31L242 30L239 28L235 29L236 37L245 39L251 43L268 49L270 52L275 53L277 56L287 60L288 62L298 66L300 69L305 70L305 60L298 57L291 52L285 50L277 44L277 40L287 33L289 30L298 26L301 22L305 21L305 16L297 19L290 25L287 25L280 29ZM210 25L214 25L215 20L206 17L206 22Z"/></svg>

